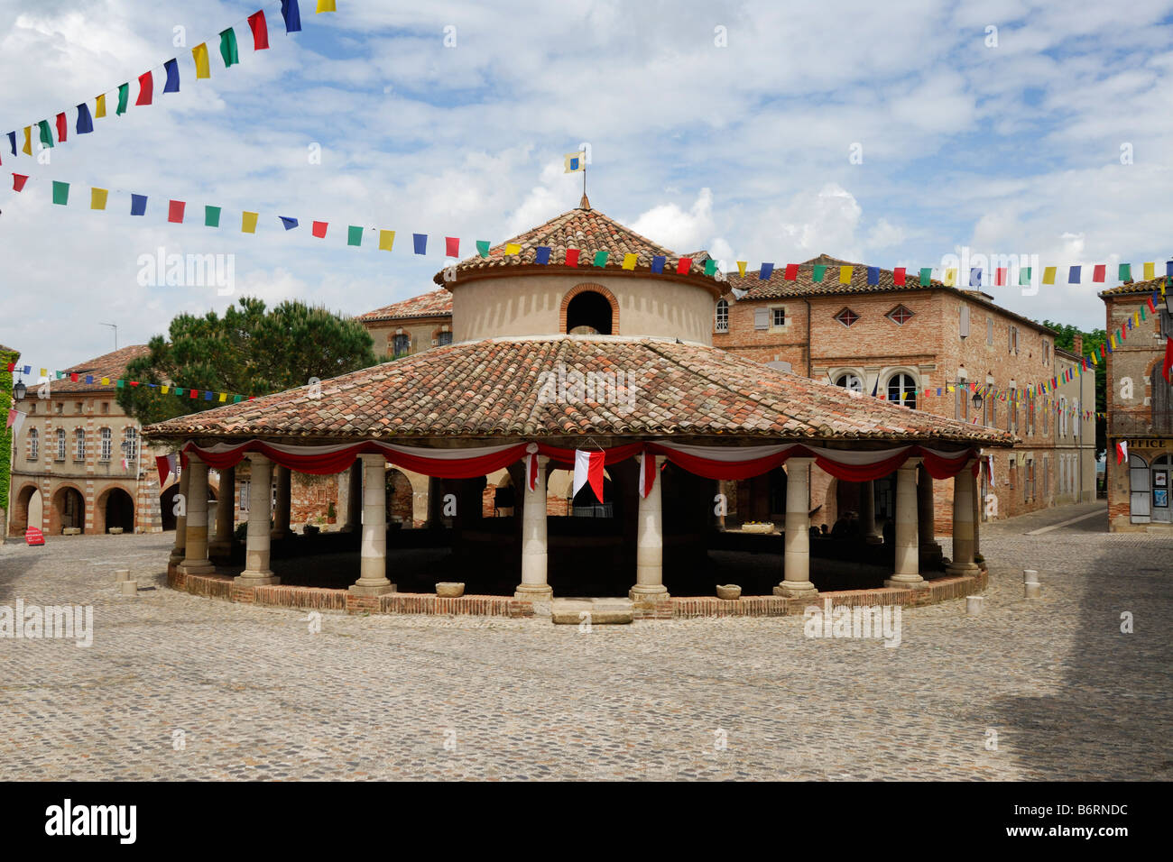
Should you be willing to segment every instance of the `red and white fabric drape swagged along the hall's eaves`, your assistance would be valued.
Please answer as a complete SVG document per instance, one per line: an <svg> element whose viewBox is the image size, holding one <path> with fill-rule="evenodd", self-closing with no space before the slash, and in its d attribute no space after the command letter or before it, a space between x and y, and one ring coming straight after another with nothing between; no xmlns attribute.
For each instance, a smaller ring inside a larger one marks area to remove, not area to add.
<svg viewBox="0 0 1173 862"><path fill-rule="evenodd" d="M209 467L225 469L238 464L245 455L257 453L282 467L297 473L328 475L341 473L354 459L364 454L382 455L388 463L405 470L438 478L473 478L526 461L527 486L534 487L537 456L544 455L563 468L572 468L576 450L545 443L507 443L462 449L428 449L398 443L367 441L337 446L297 446L250 440L245 443L217 443L202 448L188 443L182 449L184 464L188 454L198 455ZM974 475L978 474L978 450L943 452L923 446L903 446L891 449L842 450L804 443L778 446L683 446L678 443L635 442L598 450L590 459L595 469L610 467L629 457L647 453L663 455L673 464L705 478L739 480L760 476L786 463L791 457L813 457L815 464L835 478L867 482L895 471L910 457L924 460L924 468L933 478L952 478L974 460ZM595 462L598 462L595 464ZM647 459L651 463L651 457ZM640 482L643 489L644 482Z"/></svg>

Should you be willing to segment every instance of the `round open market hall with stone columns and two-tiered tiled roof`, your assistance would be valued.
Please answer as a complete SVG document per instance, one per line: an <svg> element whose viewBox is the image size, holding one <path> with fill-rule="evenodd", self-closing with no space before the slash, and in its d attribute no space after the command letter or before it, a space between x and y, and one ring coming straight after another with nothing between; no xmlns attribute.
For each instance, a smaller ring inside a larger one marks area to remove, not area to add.
<svg viewBox="0 0 1173 862"><path fill-rule="evenodd" d="M577 265L601 250L609 252L602 265ZM691 267L678 266L679 257L584 198L438 273L450 294L450 344L439 342L443 324L433 318L412 340L434 334L435 346L323 381L320 392L292 389L145 428L185 464L189 505L172 583L242 600L368 610L404 608L436 579L466 582L470 593L510 608L554 595L656 605L712 596L728 572L714 550L773 550L773 566L751 559L737 570L746 595L785 603L848 586L887 585L902 596L933 592L936 582L949 582L950 595L978 589L979 466L1019 437L1001 421L942 418L718 349L714 308L727 284L703 274L704 252L687 256ZM385 338L408 331L391 328ZM209 507L206 488L212 470L233 469L252 480L244 555L226 566L209 544L218 523L236 522L237 500L221 495ZM289 523L290 507L286 494L273 511L276 470L346 477L357 552L345 584L337 571L323 583L312 562L274 564L273 525ZM434 530L388 529L392 471L427 477L422 521ZM551 478L576 471L583 486L551 515ZM500 505L487 504L491 476L513 489ZM764 477L780 517L737 537L764 544L728 544L730 498ZM857 498L889 482L887 535L861 505L856 541L823 541L812 488L829 480L854 486ZM954 537L944 564L940 548L925 554L941 500ZM405 551L430 543L452 557L421 572ZM285 592L321 586L312 598Z"/></svg>

